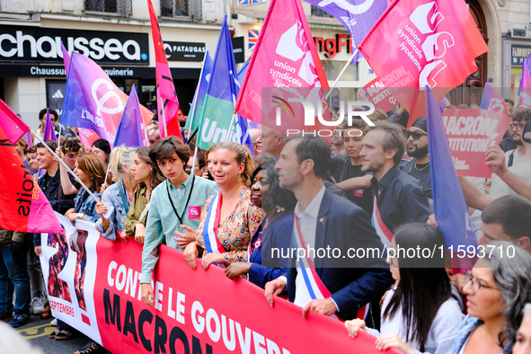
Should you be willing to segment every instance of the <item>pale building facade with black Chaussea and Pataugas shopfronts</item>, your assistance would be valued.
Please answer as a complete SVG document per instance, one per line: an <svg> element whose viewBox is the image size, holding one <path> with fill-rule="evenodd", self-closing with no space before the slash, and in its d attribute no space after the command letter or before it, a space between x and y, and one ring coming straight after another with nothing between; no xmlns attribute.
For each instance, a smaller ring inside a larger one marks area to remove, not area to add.
<svg viewBox="0 0 531 354"><path fill-rule="evenodd" d="M187 114L206 49L216 49L223 0L153 0L181 110ZM61 112L61 42L92 58L115 84L155 109L155 51L146 1L0 0L0 98L38 128L45 107Z"/></svg>

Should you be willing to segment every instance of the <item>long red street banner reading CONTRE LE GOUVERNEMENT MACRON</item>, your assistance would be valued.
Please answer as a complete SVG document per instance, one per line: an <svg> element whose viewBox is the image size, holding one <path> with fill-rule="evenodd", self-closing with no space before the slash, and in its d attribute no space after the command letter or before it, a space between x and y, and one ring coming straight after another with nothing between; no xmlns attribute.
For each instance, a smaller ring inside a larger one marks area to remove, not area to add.
<svg viewBox="0 0 531 354"><path fill-rule="evenodd" d="M65 235L42 234L41 264L52 313L112 353L379 353L375 337L351 339L344 324L308 314L263 289L226 278L216 266L192 270L162 245L154 273L155 307L141 300L142 244L111 242L94 225L58 216ZM51 289L51 291L50 291ZM399 353L398 350L388 350Z"/></svg>

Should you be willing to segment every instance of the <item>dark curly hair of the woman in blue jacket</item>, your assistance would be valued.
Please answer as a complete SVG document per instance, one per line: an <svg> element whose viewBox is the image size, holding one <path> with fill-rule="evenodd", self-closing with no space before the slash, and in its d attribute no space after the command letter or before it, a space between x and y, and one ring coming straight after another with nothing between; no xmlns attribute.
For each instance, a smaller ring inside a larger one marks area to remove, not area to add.
<svg viewBox="0 0 531 354"><path fill-rule="evenodd" d="M266 195L261 196L262 208L284 208L286 211L293 211L296 206L295 194L291 190L280 187L279 172L275 170L275 164L279 157L267 158L262 156L261 170L266 173L270 190ZM262 174L263 174L262 172Z"/></svg>

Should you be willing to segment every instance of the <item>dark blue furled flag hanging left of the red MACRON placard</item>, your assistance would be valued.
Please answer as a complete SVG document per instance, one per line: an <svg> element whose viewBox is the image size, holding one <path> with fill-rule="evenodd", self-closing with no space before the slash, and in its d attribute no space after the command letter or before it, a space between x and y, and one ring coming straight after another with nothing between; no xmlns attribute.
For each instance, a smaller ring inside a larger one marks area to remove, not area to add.
<svg viewBox="0 0 531 354"><path fill-rule="evenodd" d="M461 250L472 253L477 247L465 203L465 196L457 178L456 168L448 146L447 134L440 108L426 86L426 114L428 123L429 174L438 228L445 235L447 249L453 250L454 259ZM469 246L472 246L468 248ZM475 251L474 251L475 252ZM470 260L468 257L465 259Z"/></svg>

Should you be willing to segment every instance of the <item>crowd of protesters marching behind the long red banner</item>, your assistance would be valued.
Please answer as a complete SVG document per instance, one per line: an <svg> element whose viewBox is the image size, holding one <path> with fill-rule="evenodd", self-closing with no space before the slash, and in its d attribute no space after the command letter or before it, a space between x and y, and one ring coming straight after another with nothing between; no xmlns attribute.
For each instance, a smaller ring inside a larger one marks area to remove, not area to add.
<svg viewBox="0 0 531 354"><path fill-rule="evenodd" d="M531 110L506 102L512 118L507 137L485 154L492 179L460 177L456 186L464 192L478 244L495 251L465 274L453 273L444 255L427 261L385 258L382 252L349 266L308 257L330 292L324 298L306 288L303 263L275 259L272 250L288 250L297 235L313 248L444 248L433 212L425 117L408 130L407 111L376 110L369 117L375 126L353 119L336 128L330 143L254 128L253 151L221 143L199 149L195 161L195 139L160 138L155 119L146 127L151 146L142 148L111 148L104 139L89 148L76 128L62 128L59 143L44 144L99 200L42 143L28 148L22 137L14 147L59 214L72 223L95 223L106 242L143 243L146 305L154 305L150 281L165 245L183 252L194 270L200 259L204 270L222 267L228 279L263 288L271 306L284 296L301 307L303 317L312 311L345 321L345 335L371 333L378 350L523 354L531 353ZM58 113L49 112L55 123ZM41 137L45 119L46 109L40 111ZM353 129L358 133L350 134ZM392 241L385 242L375 227L394 235ZM60 236L50 236L49 246L67 249ZM75 284L86 264L80 240L86 235L77 237L70 240L78 254ZM30 322L31 314L51 318L48 295L71 296L61 280L42 278L40 242L40 234L0 229L0 320L15 328ZM504 257L511 247L514 256ZM56 261L50 277L57 278L62 267ZM84 297L82 288L75 293ZM52 339L82 335L58 319L52 323ZM76 353L100 350L89 340Z"/></svg>

